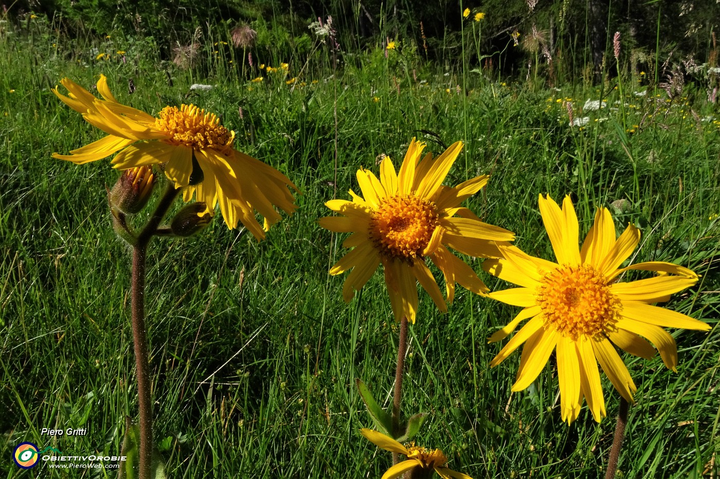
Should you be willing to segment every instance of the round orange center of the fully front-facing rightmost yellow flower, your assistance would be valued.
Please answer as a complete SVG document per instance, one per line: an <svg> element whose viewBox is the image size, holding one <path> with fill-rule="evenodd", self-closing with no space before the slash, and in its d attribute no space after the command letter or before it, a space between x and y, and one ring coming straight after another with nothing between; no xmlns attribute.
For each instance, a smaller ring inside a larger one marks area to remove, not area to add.
<svg viewBox="0 0 720 479"><path fill-rule="evenodd" d="M572 340L611 329L622 309L605 276L591 265L562 265L542 279L537 290L545 327Z"/></svg>

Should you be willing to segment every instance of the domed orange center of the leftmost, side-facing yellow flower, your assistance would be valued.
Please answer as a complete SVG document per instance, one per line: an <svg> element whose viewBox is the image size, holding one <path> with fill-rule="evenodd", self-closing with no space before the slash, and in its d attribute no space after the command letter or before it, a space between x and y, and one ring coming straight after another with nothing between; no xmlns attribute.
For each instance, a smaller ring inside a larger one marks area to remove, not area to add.
<svg viewBox="0 0 720 479"><path fill-rule="evenodd" d="M225 151L233 147L235 133L220 124L215 114L205 113L194 105L166 106L160 111L155 126L170 134L170 145L185 146L193 150Z"/></svg>

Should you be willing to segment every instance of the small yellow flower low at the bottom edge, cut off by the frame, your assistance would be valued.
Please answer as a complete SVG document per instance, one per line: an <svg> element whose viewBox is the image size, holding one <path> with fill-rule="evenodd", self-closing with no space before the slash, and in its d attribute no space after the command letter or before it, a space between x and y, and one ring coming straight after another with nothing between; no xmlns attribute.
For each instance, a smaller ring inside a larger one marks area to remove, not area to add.
<svg viewBox="0 0 720 479"><path fill-rule="evenodd" d="M372 429L360 429L360 433L377 447L407 457L406 460L398 462L385 471L381 479L400 478L408 472L413 478L430 478L433 470L443 479L472 479L467 474L458 473L445 467L448 458L439 449L426 450L425 447L415 446L414 442L405 447L392 437Z"/></svg>

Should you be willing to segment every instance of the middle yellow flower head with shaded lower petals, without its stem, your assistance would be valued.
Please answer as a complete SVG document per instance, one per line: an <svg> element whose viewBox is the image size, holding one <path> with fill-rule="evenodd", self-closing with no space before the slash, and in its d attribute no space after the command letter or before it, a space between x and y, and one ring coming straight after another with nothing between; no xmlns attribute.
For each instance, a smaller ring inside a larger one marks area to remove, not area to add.
<svg viewBox="0 0 720 479"><path fill-rule="evenodd" d="M343 216L320 219L325 229L352 233L343 247L354 250L330 268L332 275L352 269L343 286L345 301L353 298L355 290L362 288L382 263L395 319L400 321L405 316L413 323L418 309L415 280L428 291L438 309L447 311L426 257L444 274L447 301L452 301L456 282L474 293L488 289L443 243L465 255L498 257L495 241L515 237L506 229L481 222L472 211L460 206L485 186L489 176L472 178L454 188L442 186L462 150L462 142L451 145L437 158L428 153L420 160L424 147L413 138L399 173L395 173L392 160L385 157L379 180L360 168L356 176L365 198L351 190L352 201L335 199L325 203ZM454 218L456 214L460 217Z"/></svg>

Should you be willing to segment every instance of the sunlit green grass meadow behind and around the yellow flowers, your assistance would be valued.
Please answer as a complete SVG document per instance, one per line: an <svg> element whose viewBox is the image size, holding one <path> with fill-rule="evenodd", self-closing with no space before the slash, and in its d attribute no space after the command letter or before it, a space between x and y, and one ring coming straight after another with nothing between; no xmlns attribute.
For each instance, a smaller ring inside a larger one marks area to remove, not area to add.
<svg viewBox="0 0 720 479"><path fill-rule="evenodd" d="M242 50L223 44L222 28L204 32L202 63L183 69L151 39L70 39L43 17L24 22L5 24L0 42L3 477L116 477L112 469L21 470L12 451L30 441L66 455L118 455L125 416L138 414L130 250L107 206L119 173L109 160L50 156L102 137L50 88L67 76L96 93L101 73L118 101L150 114L183 103L215 112L236 132L238 150L303 193L263 242L228 230L218 211L197 236L150 245L154 437L168 478L380 478L390 466L390 453L359 434L372 421L355 380L391 403L399 327L380 273L343 302L346 275L328 269L346 252L346 235L317 220L331 214L325 201L358 191L360 166L377 173L385 154L397 168L413 137L436 154L462 140L446 184L490 174L466 205L516 232L532 255L554 260L539 194L570 195L581 239L605 206L618 234L627 224L642 230L633 262L669 261L701 275L665 304L713 327L670 330L677 373L659 356L621 355L638 391L618 478L718 477L720 112L702 86L688 82L669 97L647 78L654 73L629 72L551 88L531 73L504 78L462 59L418 60L410 43L333 53L316 41L311 54L269 53L241 68ZM287 73L258 70L281 62ZM482 272L479 258L464 260L491 289L510 287ZM584 407L567 426L554 359L531 388L512 393L520 355L490 369L506 340L488 345L487 337L517 311L458 288L441 314L420 293L402 406L430 414L415 442L441 448L451 469L475 479L600 477L618 393L603 375L606 419L596 424ZM44 427L87 433L49 437Z"/></svg>

